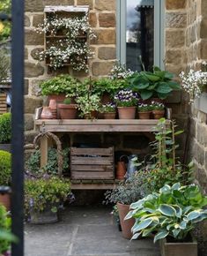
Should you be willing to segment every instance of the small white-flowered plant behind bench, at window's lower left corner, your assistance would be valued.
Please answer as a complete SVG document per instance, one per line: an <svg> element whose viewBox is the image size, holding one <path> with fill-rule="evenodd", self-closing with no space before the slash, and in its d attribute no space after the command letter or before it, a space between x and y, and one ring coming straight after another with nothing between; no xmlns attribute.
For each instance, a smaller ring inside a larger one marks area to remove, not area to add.
<svg viewBox="0 0 207 256"><path fill-rule="evenodd" d="M130 69L127 70L126 64L121 64L120 61L116 61L109 73L110 79L127 79L132 76L134 72Z"/></svg>

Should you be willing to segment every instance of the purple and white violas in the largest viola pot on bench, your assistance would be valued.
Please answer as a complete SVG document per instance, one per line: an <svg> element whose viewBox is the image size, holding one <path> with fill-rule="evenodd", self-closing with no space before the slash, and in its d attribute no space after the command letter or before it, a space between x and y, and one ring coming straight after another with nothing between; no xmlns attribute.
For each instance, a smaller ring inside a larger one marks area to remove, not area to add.
<svg viewBox="0 0 207 256"><path fill-rule="evenodd" d="M138 94L131 90L121 90L115 94L115 102L118 107L136 106L138 102Z"/></svg>

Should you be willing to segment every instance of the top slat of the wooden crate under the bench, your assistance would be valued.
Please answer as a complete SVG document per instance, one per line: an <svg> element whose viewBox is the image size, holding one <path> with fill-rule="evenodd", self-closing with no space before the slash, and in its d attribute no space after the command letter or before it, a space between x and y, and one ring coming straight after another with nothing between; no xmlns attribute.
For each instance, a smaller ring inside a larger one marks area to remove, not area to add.
<svg viewBox="0 0 207 256"><path fill-rule="evenodd" d="M71 147L70 154L82 155L82 154L95 154L95 155L112 155L113 147L109 148L80 148Z"/></svg>

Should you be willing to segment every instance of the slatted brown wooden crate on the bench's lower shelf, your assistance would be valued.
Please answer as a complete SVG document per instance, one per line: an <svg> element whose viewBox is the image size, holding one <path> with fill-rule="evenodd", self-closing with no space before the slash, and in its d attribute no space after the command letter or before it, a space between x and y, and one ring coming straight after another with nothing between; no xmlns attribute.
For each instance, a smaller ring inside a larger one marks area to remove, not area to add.
<svg viewBox="0 0 207 256"><path fill-rule="evenodd" d="M70 148L71 179L114 179L114 147Z"/></svg>

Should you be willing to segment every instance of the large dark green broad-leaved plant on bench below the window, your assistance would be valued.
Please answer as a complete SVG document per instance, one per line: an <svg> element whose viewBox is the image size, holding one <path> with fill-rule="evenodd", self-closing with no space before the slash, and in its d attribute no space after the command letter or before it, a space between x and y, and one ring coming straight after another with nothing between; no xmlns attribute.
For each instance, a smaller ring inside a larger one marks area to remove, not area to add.
<svg viewBox="0 0 207 256"><path fill-rule="evenodd" d="M154 67L153 72L135 72L129 77L129 83L130 88L138 92L143 100L152 97L166 99L173 90L181 89L181 86L173 78L172 73Z"/></svg>

